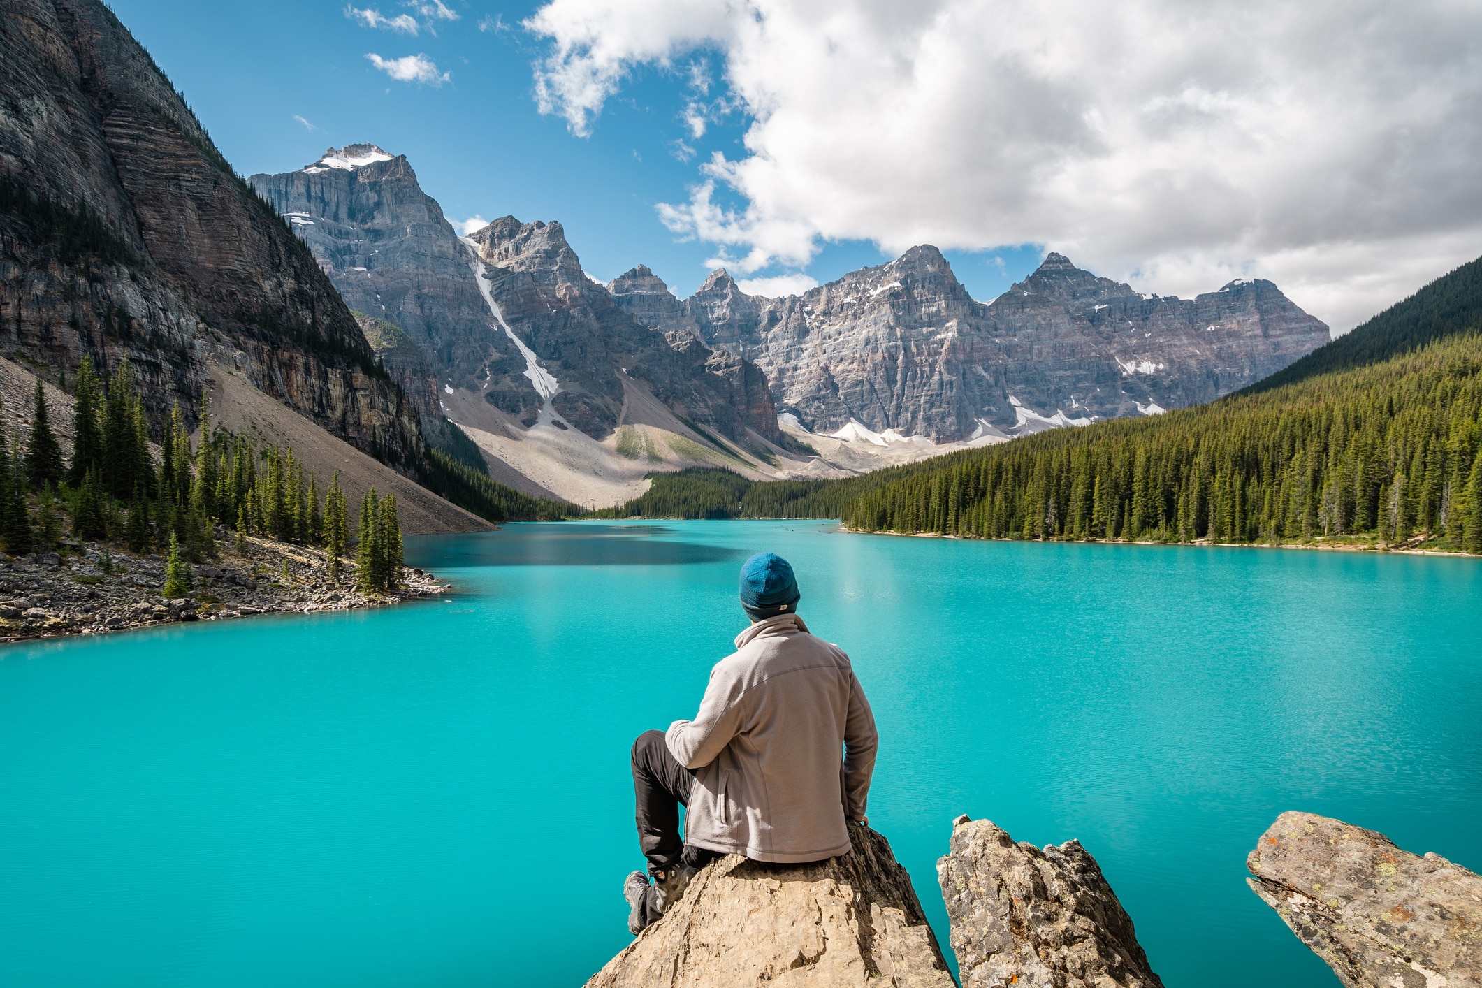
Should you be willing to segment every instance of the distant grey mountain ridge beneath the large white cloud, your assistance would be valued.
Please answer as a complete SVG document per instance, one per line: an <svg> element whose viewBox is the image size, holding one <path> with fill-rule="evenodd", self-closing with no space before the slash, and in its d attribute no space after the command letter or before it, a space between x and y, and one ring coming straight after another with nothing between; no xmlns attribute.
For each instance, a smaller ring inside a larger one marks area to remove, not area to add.
<svg viewBox="0 0 1482 988"><path fill-rule="evenodd" d="M648 268L609 290L640 320L756 361L778 409L815 433L857 421L935 441L1209 401L1328 341L1270 281L1144 296L1058 253L988 304L926 244L782 299L725 270L683 301Z"/></svg>

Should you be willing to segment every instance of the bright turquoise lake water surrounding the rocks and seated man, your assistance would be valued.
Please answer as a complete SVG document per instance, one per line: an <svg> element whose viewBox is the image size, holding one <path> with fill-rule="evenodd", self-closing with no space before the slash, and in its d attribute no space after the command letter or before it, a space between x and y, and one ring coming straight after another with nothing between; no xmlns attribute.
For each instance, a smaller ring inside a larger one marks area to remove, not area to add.
<svg viewBox="0 0 1482 988"><path fill-rule="evenodd" d="M1482 563L517 524L443 600L0 650L0 984L578 987L628 941L628 747L772 550L874 707L946 948L959 813L1079 838L1171 987L1337 985L1245 886L1301 809L1482 868Z"/></svg>

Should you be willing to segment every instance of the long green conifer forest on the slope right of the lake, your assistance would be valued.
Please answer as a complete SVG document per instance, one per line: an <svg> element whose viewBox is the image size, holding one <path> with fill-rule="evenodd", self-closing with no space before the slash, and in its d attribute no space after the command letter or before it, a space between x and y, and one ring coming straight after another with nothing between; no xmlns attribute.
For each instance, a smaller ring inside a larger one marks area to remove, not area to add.
<svg viewBox="0 0 1482 988"><path fill-rule="evenodd" d="M1157 418L1055 430L837 481L657 475L614 511L842 518L1015 539L1360 538L1482 551L1482 338Z"/></svg>

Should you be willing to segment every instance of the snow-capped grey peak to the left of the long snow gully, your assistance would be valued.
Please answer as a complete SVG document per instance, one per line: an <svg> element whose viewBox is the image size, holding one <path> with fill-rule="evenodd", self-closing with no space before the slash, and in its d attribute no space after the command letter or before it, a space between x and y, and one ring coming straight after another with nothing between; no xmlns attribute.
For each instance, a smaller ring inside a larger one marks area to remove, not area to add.
<svg viewBox="0 0 1482 988"><path fill-rule="evenodd" d="M489 360L522 366L492 326L468 249L405 156L373 144L247 179L310 246L350 308L400 326L453 387L483 384Z"/></svg>

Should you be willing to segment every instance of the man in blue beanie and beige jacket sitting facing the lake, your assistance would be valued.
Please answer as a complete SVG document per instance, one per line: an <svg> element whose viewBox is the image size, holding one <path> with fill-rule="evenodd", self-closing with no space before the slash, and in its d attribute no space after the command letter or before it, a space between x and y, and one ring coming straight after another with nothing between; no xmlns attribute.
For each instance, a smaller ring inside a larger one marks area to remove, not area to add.
<svg viewBox="0 0 1482 988"><path fill-rule="evenodd" d="M654 877L634 871L622 886L634 935L722 855L824 861L849 852L846 821L865 825L874 714L849 656L797 616L799 597L787 560L748 558L741 607L751 627L710 670L695 720L633 742L639 846Z"/></svg>

